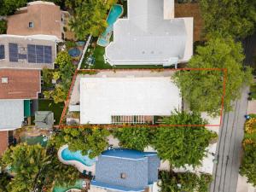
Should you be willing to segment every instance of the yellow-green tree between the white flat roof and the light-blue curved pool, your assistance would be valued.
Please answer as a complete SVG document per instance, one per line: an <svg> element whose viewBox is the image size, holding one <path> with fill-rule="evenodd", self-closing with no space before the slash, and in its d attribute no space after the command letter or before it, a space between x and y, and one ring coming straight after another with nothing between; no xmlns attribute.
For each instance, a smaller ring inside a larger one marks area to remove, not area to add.
<svg viewBox="0 0 256 192"><path fill-rule="evenodd" d="M109 131L100 128L64 128L55 134L52 144L60 148L68 144L71 151L81 151L83 155L88 154L94 158L108 147Z"/></svg>

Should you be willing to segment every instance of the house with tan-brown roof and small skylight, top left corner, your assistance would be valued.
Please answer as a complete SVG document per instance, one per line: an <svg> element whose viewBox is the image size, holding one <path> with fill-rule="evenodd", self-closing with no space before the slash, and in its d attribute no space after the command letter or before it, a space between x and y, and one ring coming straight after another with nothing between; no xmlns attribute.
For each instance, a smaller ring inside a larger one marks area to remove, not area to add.
<svg viewBox="0 0 256 192"><path fill-rule="evenodd" d="M64 26L68 12L61 11L55 3L35 1L27 3L15 15L8 17L7 34L32 36L49 35L59 40L65 38Z"/></svg>

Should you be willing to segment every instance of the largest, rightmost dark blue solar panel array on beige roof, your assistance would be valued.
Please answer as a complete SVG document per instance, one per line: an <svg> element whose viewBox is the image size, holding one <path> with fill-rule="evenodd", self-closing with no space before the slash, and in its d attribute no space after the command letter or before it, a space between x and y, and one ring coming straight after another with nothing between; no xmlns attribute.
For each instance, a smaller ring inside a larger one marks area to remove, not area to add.
<svg viewBox="0 0 256 192"><path fill-rule="evenodd" d="M52 63L51 46L27 44L27 61L34 63Z"/></svg>

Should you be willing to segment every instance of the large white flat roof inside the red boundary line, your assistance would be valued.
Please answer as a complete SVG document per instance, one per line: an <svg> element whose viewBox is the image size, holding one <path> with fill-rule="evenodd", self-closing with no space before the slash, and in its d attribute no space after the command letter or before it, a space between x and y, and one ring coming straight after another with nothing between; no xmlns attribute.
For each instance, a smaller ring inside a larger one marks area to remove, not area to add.
<svg viewBox="0 0 256 192"><path fill-rule="evenodd" d="M80 124L111 124L112 115L170 115L181 102L171 77L80 79Z"/></svg>

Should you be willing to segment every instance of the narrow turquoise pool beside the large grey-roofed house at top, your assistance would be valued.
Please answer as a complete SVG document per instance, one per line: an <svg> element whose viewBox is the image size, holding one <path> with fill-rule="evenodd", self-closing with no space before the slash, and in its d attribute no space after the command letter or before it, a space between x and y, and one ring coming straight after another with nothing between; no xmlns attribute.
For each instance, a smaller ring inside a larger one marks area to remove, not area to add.
<svg viewBox="0 0 256 192"><path fill-rule="evenodd" d="M108 27L105 32L98 38L97 44L101 45L102 47L106 47L109 44L109 39L113 32L113 24L114 22L123 14L123 6L120 4L115 4L110 9L108 14L107 22Z"/></svg>

